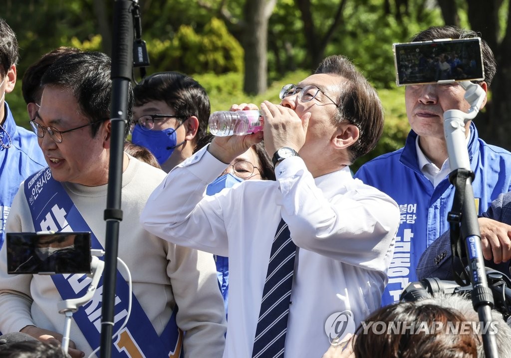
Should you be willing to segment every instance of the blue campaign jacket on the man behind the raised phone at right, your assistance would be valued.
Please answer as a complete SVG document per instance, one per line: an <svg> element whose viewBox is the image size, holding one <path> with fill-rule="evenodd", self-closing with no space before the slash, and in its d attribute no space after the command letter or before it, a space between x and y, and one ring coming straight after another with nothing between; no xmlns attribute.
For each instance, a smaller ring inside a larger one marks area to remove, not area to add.
<svg viewBox="0 0 511 358"><path fill-rule="evenodd" d="M452 208L454 186L446 177L436 188L417 163L415 139L410 131L404 148L384 154L364 165L355 174L396 200L401 224L396 234L394 255L388 270L388 285L382 305L399 300L409 282L416 281L415 268L426 248L449 229L447 213ZM486 144L470 125L468 144L472 183L478 214L482 214L499 194L511 190L511 153Z"/></svg>

